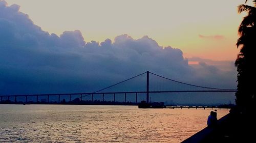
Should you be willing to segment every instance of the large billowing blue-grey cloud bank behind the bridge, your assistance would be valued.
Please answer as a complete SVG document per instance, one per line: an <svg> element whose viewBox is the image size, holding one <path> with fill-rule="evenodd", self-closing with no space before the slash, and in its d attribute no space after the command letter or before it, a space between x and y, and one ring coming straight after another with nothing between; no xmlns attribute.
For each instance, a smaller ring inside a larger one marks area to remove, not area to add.
<svg viewBox="0 0 256 143"><path fill-rule="evenodd" d="M1 95L93 92L147 70L198 85L233 89L236 84L233 76L226 76L233 69L223 72L203 62L190 66L180 49L159 46L148 36L133 39L124 34L99 43L84 41L78 30L50 35L19 12L19 6L8 7L5 1L0 1L0 41ZM151 78L152 90L168 85ZM181 87L173 85L170 88ZM145 76L111 90L144 91ZM233 101L228 97L216 100ZM165 100L160 98L156 100Z"/></svg>

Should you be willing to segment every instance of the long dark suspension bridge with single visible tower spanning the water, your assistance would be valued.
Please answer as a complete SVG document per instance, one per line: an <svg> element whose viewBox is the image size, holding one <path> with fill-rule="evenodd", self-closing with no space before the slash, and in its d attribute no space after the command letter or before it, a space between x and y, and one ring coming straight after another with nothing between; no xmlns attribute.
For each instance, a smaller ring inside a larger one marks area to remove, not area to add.
<svg viewBox="0 0 256 143"><path fill-rule="evenodd" d="M103 91L106 91L110 88L113 88L113 87L116 87L117 85L119 84L122 84L124 82L127 82L127 81L130 81L132 79L135 79L135 78L138 78L142 75L146 75L146 82L144 83L144 86L145 86L145 90L144 91L118 91L118 92L103 92ZM150 89L150 75L153 75L155 77L158 77L158 78L161 78L161 79L164 79L166 81L170 81L170 82L174 82L174 83L178 83L178 84L183 84L183 85L186 85L188 87L195 87L197 88L197 90L151 90ZM198 90L198 89L201 89L201 90ZM101 101L105 101L105 95L112 95L112 98L113 98L113 102L116 102L116 95L123 95L124 96L124 101L123 102L126 102L126 97L129 96L129 95L135 95L135 102L137 103L138 102L138 95L139 94L143 94L145 95L145 101L146 103L149 103L150 102L150 96L152 96L153 94L155 93L228 93L228 92L237 92L237 90L234 90L234 89L221 89L221 88L212 88L212 87L204 87L204 86L200 86L200 85L196 85L196 84L190 84L190 83L185 83L185 82L181 82L181 81L178 81L178 80L174 80L174 79L170 79L170 78L167 78L167 77L164 77L164 76L161 76L161 75L158 75L158 74L155 74L155 73L152 73L150 71L146 71L144 73L141 73L141 74L138 74L136 76L133 76L131 78L128 78L128 79L125 79L123 81L120 81L118 83L115 83L113 85L110 85L106 88L103 88L101 90L98 90L98 91L95 91L95 92L88 92L88 93L61 93L61 94L26 94L26 95L0 95L0 98L1 98L1 102L4 102L4 101L10 101L10 99L13 99L13 102L14 103L17 103L19 102L17 100L17 98L25 98L24 99L24 102L25 103L28 103L29 100L28 98L29 97L35 97L36 98L36 103L39 103L39 97L46 97L46 100L44 102L46 103L50 103L50 98L51 97L56 97L57 96L57 103L60 103L61 102L61 97L62 96L68 96L69 97L69 102L72 101L72 99L79 99L80 101L84 101L84 99L86 98L87 101L91 101L91 102L94 102L96 101L94 99L95 96L101 96ZM89 97L89 98L88 98ZM0 102L0 103L1 103Z"/></svg>

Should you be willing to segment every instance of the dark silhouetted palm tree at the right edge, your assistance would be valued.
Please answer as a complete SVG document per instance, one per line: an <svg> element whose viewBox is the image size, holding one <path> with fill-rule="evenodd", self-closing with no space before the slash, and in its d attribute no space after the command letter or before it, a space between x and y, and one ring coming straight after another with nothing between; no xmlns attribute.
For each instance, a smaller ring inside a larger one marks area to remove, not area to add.
<svg viewBox="0 0 256 143"><path fill-rule="evenodd" d="M237 47L241 48L235 62L238 71L236 103L242 107L255 105L256 96L256 31L254 25L256 20L256 0L253 0L253 3L254 6L238 6L238 13L248 13L239 26L238 33L240 38L238 39Z"/></svg>

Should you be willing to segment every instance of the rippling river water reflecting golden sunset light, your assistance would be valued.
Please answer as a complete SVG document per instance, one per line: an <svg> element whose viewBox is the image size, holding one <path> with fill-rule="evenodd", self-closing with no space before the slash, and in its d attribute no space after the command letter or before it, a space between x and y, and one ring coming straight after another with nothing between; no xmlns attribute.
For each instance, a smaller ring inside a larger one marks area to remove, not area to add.
<svg viewBox="0 0 256 143"><path fill-rule="evenodd" d="M210 109L0 105L0 142L180 142L206 127ZM218 110L218 119L228 110Z"/></svg>

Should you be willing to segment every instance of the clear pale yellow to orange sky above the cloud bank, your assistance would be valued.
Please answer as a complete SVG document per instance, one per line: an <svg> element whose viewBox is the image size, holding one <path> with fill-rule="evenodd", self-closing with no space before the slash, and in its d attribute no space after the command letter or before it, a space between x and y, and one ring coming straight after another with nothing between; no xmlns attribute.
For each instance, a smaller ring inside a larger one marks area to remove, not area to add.
<svg viewBox="0 0 256 143"><path fill-rule="evenodd" d="M102 42L127 34L148 36L160 46L172 46L191 56L211 60L236 59L241 0L227 1L19 1L20 11L42 30L57 35L81 31L86 41Z"/></svg>

